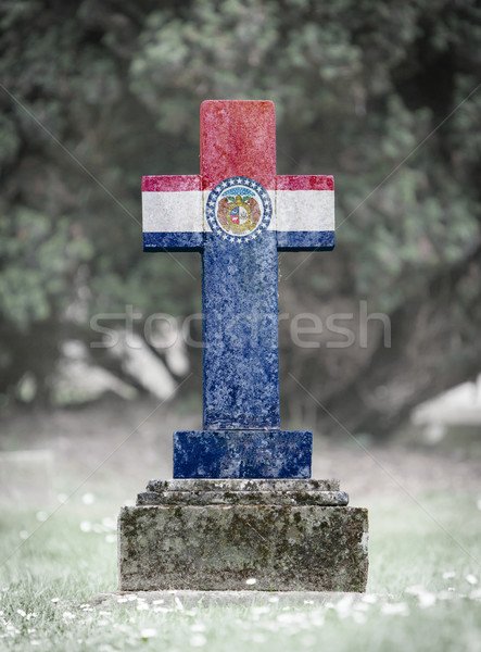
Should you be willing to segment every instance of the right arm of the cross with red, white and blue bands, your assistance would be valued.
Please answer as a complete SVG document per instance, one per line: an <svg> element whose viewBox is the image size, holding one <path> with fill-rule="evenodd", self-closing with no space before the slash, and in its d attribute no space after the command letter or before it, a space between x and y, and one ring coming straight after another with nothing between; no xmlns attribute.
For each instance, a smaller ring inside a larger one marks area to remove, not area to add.
<svg viewBox="0 0 481 652"><path fill-rule="evenodd" d="M277 176L276 230L279 251L333 249L333 177Z"/></svg>

